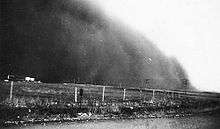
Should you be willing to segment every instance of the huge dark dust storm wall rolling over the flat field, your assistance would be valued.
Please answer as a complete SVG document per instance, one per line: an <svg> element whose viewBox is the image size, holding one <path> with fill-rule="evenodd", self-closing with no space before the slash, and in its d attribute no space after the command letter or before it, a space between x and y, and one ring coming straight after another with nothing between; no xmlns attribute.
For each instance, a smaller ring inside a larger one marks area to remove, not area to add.
<svg viewBox="0 0 220 129"><path fill-rule="evenodd" d="M5 0L1 10L2 78L192 89L175 58L89 2Z"/></svg>

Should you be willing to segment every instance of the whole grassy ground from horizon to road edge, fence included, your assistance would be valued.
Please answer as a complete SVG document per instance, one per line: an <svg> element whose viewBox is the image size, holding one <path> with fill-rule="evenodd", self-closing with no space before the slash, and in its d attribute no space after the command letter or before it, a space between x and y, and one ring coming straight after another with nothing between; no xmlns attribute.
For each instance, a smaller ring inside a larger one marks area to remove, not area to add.
<svg viewBox="0 0 220 129"><path fill-rule="evenodd" d="M0 83L0 121L184 116L219 111L220 94L91 84Z"/></svg>

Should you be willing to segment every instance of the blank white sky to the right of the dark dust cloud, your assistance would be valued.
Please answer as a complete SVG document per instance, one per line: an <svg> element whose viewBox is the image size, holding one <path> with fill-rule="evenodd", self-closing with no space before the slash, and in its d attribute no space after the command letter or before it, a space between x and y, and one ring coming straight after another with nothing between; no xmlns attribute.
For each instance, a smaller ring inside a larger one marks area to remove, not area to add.
<svg viewBox="0 0 220 129"><path fill-rule="evenodd" d="M176 57L199 90L220 92L219 0L90 0Z"/></svg>

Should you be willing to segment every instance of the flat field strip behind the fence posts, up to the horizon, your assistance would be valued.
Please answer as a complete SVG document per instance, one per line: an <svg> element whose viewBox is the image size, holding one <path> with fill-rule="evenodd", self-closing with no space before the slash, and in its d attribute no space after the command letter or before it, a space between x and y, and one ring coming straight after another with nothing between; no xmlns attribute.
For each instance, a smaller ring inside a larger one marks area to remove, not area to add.
<svg viewBox="0 0 220 129"><path fill-rule="evenodd" d="M10 82L1 82L1 97L9 95ZM76 89L77 87L77 89ZM14 82L13 94L15 95L28 95L28 96L75 96L79 94L79 89L83 89L83 97L95 98L102 100L103 87L105 87L104 98L105 100L150 100L153 96L153 91L156 97L197 97L206 99L220 99L220 93L212 92L193 92L193 91L175 91L175 90L161 90L161 89L144 89L144 88L123 88L119 86L103 86L92 84L74 84L74 83L33 83L33 82ZM75 91L77 90L77 92ZM124 97L125 92L125 98ZM4 95L4 96L3 96Z"/></svg>

